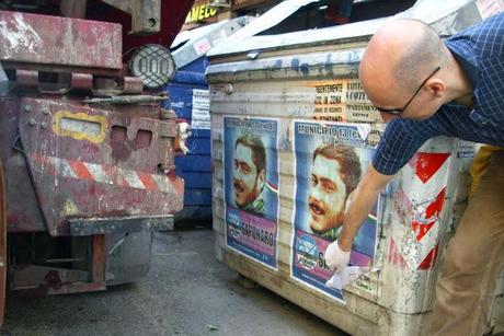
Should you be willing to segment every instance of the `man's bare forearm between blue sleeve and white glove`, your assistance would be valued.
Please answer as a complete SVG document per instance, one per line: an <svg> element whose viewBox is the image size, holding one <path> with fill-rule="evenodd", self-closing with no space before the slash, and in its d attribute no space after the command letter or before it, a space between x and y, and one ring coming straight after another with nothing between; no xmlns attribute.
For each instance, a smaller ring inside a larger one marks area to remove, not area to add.
<svg viewBox="0 0 504 336"><path fill-rule="evenodd" d="M337 240L343 251L350 251L355 235L366 220L381 189L393 175L378 173L371 164L355 189L355 195L345 215L343 229Z"/></svg>

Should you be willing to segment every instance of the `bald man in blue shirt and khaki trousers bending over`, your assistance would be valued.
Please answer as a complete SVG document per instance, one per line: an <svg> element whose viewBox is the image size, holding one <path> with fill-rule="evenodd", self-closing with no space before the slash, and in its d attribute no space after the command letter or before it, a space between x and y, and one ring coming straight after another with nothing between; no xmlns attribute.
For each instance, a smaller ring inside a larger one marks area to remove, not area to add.
<svg viewBox="0 0 504 336"><path fill-rule="evenodd" d="M442 42L427 25L392 20L374 35L360 83L387 125L327 264L341 271L378 194L435 136L504 147L504 14ZM504 259L504 151L494 150L443 265L432 335L481 335Z"/></svg>

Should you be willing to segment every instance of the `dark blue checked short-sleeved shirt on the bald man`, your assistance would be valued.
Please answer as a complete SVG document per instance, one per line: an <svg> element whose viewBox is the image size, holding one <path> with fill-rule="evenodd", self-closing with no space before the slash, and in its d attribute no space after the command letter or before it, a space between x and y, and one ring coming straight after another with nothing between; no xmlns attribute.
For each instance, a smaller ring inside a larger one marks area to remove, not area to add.
<svg viewBox="0 0 504 336"><path fill-rule="evenodd" d="M474 88L473 105L446 104L422 121L390 121L373 159L381 174L396 174L436 136L504 146L504 13L470 26L445 44Z"/></svg>

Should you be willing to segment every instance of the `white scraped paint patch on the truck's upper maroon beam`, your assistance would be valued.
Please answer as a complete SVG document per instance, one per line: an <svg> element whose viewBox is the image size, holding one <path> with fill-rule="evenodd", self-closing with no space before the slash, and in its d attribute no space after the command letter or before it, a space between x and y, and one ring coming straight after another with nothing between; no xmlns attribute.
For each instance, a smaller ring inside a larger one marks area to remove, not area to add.
<svg viewBox="0 0 504 336"><path fill-rule="evenodd" d="M34 49L42 45L41 36L24 21L22 14L14 14L12 24L9 27L5 21L0 21L0 36L10 44L5 46L4 58L11 58L16 48L23 48L23 51L35 51Z"/></svg>

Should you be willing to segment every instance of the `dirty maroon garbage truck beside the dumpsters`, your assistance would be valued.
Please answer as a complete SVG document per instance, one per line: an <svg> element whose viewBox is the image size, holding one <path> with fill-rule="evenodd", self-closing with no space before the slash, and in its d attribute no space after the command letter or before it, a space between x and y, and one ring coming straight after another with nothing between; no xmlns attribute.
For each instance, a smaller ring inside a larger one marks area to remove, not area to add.
<svg viewBox="0 0 504 336"><path fill-rule="evenodd" d="M152 231L183 207L180 127L157 88L192 4L0 4L0 316L5 290L99 291L148 273Z"/></svg>

